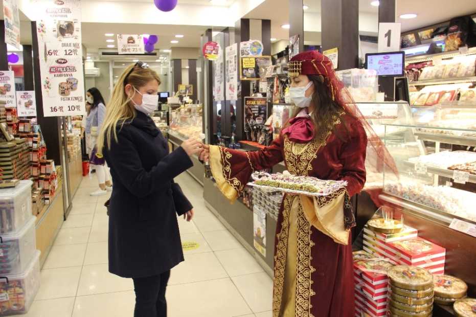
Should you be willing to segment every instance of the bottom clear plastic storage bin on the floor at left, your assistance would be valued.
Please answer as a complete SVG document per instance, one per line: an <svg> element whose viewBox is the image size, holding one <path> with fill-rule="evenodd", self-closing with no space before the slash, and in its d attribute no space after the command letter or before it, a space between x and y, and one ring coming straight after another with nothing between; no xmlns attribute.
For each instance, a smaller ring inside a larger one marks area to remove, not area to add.
<svg viewBox="0 0 476 317"><path fill-rule="evenodd" d="M40 252L22 274L0 277L0 316L27 313L40 288Z"/></svg>

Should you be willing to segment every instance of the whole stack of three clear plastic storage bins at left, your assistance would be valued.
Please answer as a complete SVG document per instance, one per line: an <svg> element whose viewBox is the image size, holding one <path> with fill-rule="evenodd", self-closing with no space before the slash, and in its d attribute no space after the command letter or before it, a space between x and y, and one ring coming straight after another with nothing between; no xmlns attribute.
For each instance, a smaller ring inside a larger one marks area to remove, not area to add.
<svg viewBox="0 0 476 317"><path fill-rule="evenodd" d="M0 189L0 316L27 313L40 286L31 180Z"/></svg>

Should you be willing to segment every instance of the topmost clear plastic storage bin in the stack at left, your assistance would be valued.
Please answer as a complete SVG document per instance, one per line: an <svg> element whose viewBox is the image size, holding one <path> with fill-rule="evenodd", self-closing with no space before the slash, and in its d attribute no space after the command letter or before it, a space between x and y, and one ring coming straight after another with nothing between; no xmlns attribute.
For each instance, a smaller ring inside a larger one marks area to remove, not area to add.
<svg viewBox="0 0 476 317"><path fill-rule="evenodd" d="M20 180L14 188L0 189L0 235L19 231L30 220L31 180Z"/></svg>

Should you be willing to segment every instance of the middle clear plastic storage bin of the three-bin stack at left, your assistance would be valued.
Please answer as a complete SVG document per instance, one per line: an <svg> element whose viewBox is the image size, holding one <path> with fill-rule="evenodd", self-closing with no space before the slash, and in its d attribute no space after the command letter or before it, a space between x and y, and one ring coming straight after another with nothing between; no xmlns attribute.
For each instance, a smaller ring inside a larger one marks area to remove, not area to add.
<svg viewBox="0 0 476 317"><path fill-rule="evenodd" d="M18 233L0 235L0 276L25 271L36 251L36 217L31 216Z"/></svg>

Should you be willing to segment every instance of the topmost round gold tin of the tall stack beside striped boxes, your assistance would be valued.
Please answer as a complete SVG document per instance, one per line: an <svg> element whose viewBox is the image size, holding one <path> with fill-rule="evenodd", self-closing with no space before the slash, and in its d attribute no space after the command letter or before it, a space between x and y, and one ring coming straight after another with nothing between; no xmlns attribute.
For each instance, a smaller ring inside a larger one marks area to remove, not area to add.
<svg viewBox="0 0 476 317"><path fill-rule="evenodd" d="M417 266L396 265L388 269L387 275L391 285L404 289L425 290L433 285L433 275Z"/></svg>

